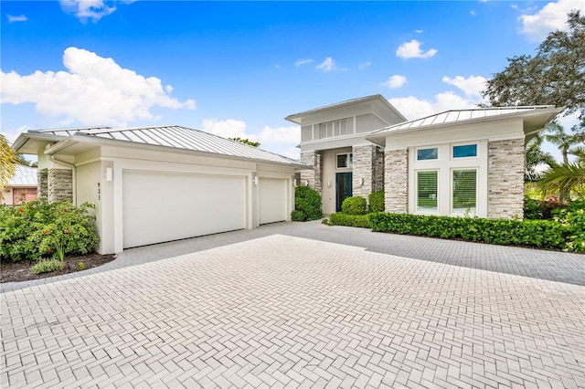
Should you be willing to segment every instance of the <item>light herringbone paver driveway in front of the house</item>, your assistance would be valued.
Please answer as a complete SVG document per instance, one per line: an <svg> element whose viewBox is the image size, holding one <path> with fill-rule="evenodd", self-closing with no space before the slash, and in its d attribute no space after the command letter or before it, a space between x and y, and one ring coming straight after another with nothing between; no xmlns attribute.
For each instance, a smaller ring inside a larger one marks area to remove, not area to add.
<svg viewBox="0 0 585 389"><path fill-rule="evenodd" d="M585 387L585 257L318 223L5 284L2 387Z"/></svg>

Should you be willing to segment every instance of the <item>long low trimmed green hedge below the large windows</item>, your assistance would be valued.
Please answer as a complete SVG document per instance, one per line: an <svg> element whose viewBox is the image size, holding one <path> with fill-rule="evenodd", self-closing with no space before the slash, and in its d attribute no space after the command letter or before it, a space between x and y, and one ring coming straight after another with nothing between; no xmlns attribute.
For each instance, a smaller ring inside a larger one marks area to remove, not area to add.
<svg viewBox="0 0 585 389"><path fill-rule="evenodd" d="M374 231L441 238L462 238L495 245L561 248L577 251L581 245L585 211L570 215L566 224L552 220L483 219L478 217L370 214ZM582 219L581 219L582 217ZM568 240L574 236L573 240ZM570 242L574 242L569 245ZM585 250L585 247L583 247ZM580 249L580 248L579 248Z"/></svg>

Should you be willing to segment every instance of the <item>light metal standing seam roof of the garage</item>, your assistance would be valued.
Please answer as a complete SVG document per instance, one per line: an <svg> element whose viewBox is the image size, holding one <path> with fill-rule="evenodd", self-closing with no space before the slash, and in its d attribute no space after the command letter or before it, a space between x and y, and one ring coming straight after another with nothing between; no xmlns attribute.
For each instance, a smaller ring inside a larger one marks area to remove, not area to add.
<svg viewBox="0 0 585 389"><path fill-rule="evenodd" d="M248 144L231 141L205 131L194 130L182 126L154 126L113 129L111 127L87 127L55 130L29 131L43 134L69 137L86 135L95 138L120 142L133 142L154 146L172 147L195 152L229 155L239 158L250 158L271 163L303 164L282 155L267 152Z"/></svg>

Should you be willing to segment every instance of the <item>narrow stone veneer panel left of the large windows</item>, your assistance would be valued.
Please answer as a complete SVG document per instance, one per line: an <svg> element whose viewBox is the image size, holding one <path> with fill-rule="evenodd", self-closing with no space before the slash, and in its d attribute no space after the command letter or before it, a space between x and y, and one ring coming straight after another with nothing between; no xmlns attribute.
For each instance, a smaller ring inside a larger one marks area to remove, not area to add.
<svg viewBox="0 0 585 389"><path fill-rule="evenodd" d="M384 155L384 192L386 212L409 212L409 151L387 150Z"/></svg>

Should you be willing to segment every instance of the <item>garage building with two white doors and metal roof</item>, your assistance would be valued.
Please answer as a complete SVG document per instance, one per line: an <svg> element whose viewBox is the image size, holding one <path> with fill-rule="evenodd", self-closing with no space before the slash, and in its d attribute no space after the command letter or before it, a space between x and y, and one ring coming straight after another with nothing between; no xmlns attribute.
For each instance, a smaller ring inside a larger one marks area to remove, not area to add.
<svg viewBox="0 0 585 389"><path fill-rule="evenodd" d="M99 252L290 220L307 166L180 126L27 131L39 197L96 205Z"/></svg>

